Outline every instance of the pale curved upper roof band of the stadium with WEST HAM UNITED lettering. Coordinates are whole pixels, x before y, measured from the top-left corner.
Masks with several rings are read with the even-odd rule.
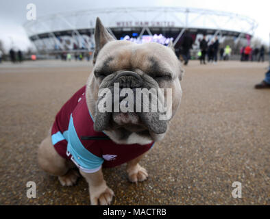
[[[99,16],[106,27],[188,27],[253,34],[256,21],[240,14],[197,8],[103,8],[63,12],[28,21],[29,36],[49,31],[94,28]]]

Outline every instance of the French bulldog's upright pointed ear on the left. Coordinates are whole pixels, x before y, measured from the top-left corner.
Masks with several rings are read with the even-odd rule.
[[[93,63],[95,64],[99,51],[104,47],[107,42],[113,41],[114,38],[109,34],[107,29],[101,23],[99,17],[97,17],[95,27],[95,52],[93,56]]]

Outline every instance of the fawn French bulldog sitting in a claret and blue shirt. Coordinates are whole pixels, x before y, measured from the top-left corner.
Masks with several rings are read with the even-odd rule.
[[[147,179],[147,170],[138,162],[169,130],[169,123],[180,107],[183,70],[172,48],[156,42],[136,44],[115,40],[99,18],[95,26],[93,64],[86,86],[64,104],[49,136],[41,142],[38,164],[42,170],[57,176],[62,185],[74,185],[80,173],[88,182],[90,203],[109,205],[114,192],[103,179],[102,168],[127,163],[131,182]],[[125,88],[131,94],[136,89],[164,89],[158,99],[163,99],[162,103],[166,101],[171,114],[164,119],[160,118],[164,112],[149,110],[153,96],[148,103],[137,99],[138,94],[127,101],[126,94],[121,96]],[[106,95],[102,93],[104,89]],[[114,96],[110,103],[106,102],[108,96]],[[136,101],[132,109],[142,104],[149,111],[115,110],[121,104],[121,109],[130,105],[133,99]],[[111,112],[102,110],[109,106]]]

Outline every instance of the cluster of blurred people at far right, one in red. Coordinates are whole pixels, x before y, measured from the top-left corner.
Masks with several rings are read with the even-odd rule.
[[[252,48],[249,45],[242,47],[240,50],[241,61],[258,61],[265,62],[265,47],[262,45],[260,49],[258,47]]]

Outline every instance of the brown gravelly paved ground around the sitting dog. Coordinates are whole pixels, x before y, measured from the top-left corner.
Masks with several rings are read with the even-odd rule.
[[[186,67],[180,111],[167,137],[143,159],[149,179],[127,181],[125,166],[104,171],[114,205],[269,205],[270,90],[254,90],[267,63]],[[0,204],[88,205],[81,178],[63,188],[38,168],[38,144],[56,112],[84,85],[88,62],[0,65]],[[35,181],[37,198],[26,197]],[[232,182],[243,198],[232,198]]]

